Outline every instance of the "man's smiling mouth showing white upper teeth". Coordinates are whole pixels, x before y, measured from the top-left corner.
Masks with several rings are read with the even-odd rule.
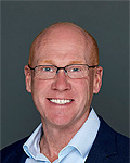
[[[72,101],[74,101],[73,99],[48,99],[48,100],[56,104],[68,104]]]

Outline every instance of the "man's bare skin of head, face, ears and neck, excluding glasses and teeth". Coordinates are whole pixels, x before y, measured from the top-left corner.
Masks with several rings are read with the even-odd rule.
[[[95,40],[82,28],[72,23],[56,23],[35,39],[30,47],[29,62],[36,65],[99,64]],[[34,71],[25,66],[26,89],[31,92],[41,115],[44,135],[40,141],[40,152],[51,162],[70,141],[87,121],[93,93],[102,85],[101,66],[89,70],[81,79],[69,78],[63,70],[53,79],[35,77]],[[48,99],[73,99],[67,104],[55,104]]]

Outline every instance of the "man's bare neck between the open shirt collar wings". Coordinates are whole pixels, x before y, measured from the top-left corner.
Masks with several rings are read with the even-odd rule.
[[[75,131],[67,130],[46,130],[41,141],[40,141],[40,150],[51,162],[58,158],[60,151],[67,146],[70,139],[74,137]]]

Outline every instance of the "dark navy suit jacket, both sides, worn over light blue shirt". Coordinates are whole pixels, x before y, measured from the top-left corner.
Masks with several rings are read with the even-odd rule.
[[[113,130],[102,117],[100,120],[101,126],[86,163],[129,163],[129,139]],[[23,145],[27,138],[4,148],[1,163],[25,163],[27,155]]]

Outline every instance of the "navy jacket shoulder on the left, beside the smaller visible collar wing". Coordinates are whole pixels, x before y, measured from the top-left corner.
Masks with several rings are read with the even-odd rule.
[[[11,159],[13,158],[17,158],[17,156],[23,156],[24,150],[23,150],[23,145],[25,143],[25,141],[27,140],[28,137],[21,139],[5,148],[3,148],[0,151],[1,154],[1,163],[8,163],[10,162]]]

